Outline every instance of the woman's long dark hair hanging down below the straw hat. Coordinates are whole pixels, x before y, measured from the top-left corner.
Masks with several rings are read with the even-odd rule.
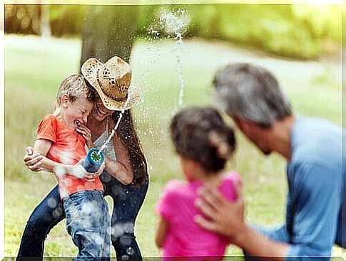
[[[112,119],[116,123],[121,112],[113,112]],[[133,171],[133,184],[141,186],[148,180],[148,169],[146,158],[143,154],[141,142],[138,139],[133,124],[131,110],[126,110],[118,126],[118,134],[127,149]]]

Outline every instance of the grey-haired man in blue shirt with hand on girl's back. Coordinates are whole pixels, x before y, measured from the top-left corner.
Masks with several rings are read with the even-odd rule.
[[[233,203],[213,188],[200,191],[195,203],[207,218],[198,215],[195,221],[227,236],[245,255],[262,259],[327,260],[334,243],[345,247],[341,127],[323,119],[296,117],[278,81],[264,68],[228,65],[216,73],[213,84],[218,101],[240,131],[263,154],[275,151],[287,159],[286,222],[275,228],[245,223],[241,188]]]

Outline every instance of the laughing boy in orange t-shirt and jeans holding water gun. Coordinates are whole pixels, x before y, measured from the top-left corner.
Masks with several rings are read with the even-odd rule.
[[[88,176],[81,166],[86,140],[76,132],[79,124],[86,123],[93,99],[83,76],[63,80],[56,95],[56,110],[39,123],[34,144],[34,151],[43,156],[42,167],[54,171],[58,180],[66,229],[79,249],[76,260],[110,257],[111,252],[108,205],[98,177],[104,166],[92,178]]]

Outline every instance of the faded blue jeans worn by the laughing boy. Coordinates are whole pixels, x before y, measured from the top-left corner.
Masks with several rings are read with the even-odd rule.
[[[74,260],[111,257],[111,220],[102,191],[79,191],[63,198],[66,229],[79,252]]]

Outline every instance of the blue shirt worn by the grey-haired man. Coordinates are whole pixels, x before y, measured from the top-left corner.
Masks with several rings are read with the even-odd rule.
[[[345,247],[342,128],[323,119],[298,117],[291,144],[286,223],[258,229],[268,238],[288,243],[290,261],[295,260],[292,257],[327,257],[334,243]]]

